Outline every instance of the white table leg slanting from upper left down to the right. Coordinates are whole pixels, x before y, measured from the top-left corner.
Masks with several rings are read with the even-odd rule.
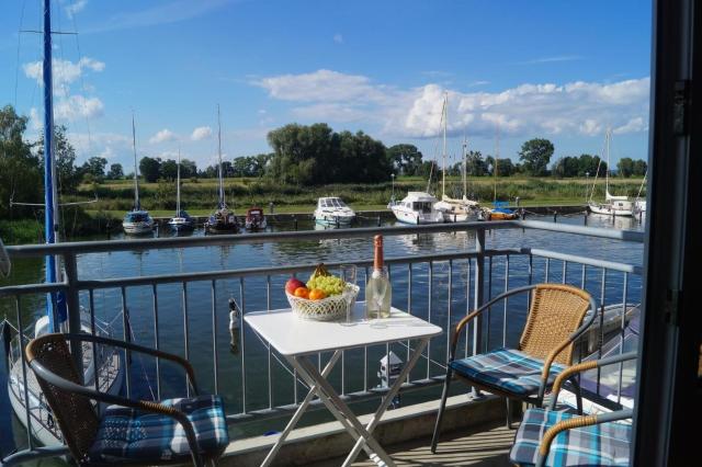
[[[302,369],[303,373],[307,373],[307,375],[318,385],[317,395],[319,398],[325,401],[327,399],[331,403],[325,403],[330,412],[333,413],[337,419],[346,418],[351,426],[346,426],[349,434],[358,440],[356,444],[361,444],[362,447],[371,448],[375,453],[377,457],[385,463],[385,465],[394,466],[393,459],[387,455],[387,453],[383,449],[383,447],[378,444],[375,438],[365,430],[365,426],[359,421],[353,411],[347,406],[347,403],[339,397],[333,387],[327,381],[327,379],[317,371],[315,365],[313,365],[307,358],[295,357],[297,364],[299,365],[298,372]],[[360,437],[358,437],[360,436]],[[367,452],[367,451],[366,451]]]

